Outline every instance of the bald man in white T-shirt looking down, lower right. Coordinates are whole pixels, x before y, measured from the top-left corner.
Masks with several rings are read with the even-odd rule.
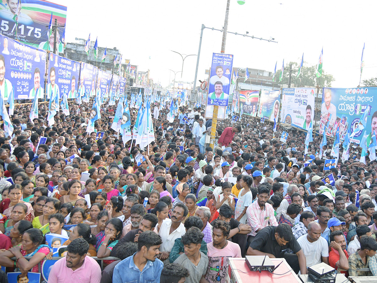
[[[324,262],[329,264],[329,248],[327,241],[321,237],[321,226],[317,222],[308,224],[308,234],[297,239],[307,260],[307,266]]]

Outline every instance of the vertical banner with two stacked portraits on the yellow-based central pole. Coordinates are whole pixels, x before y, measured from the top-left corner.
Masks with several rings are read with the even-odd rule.
[[[218,105],[218,119],[225,118],[228,106],[233,55],[213,53],[210,80],[208,85],[207,107],[205,117],[212,118],[213,106]]]

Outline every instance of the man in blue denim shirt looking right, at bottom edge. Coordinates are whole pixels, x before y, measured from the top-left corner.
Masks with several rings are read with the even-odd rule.
[[[141,233],[138,238],[138,251],[115,266],[113,283],[160,283],[164,264],[157,256],[161,243],[161,237],[155,232]]]

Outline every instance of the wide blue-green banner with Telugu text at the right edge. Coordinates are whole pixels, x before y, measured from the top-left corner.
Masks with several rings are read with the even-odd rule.
[[[326,134],[334,135],[339,129],[342,139],[349,125],[351,142],[360,144],[364,133],[370,142],[372,130],[377,134],[377,103],[373,101],[376,95],[377,88],[372,87],[323,88],[321,122],[328,120]]]

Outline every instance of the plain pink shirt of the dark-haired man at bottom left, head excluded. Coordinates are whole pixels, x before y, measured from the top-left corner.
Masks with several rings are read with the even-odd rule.
[[[101,268],[97,261],[86,256],[83,265],[75,271],[67,267],[66,258],[60,258],[51,269],[48,277],[48,283],[100,283]]]

